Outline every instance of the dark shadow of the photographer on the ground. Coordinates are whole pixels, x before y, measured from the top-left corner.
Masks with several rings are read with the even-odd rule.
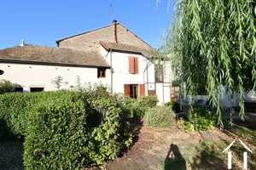
[[[186,161],[181,155],[177,144],[171,144],[165,159],[165,170],[186,170]]]

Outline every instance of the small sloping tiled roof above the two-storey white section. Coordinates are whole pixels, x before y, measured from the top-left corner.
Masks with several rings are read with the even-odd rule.
[[[147,53],[149,51],[149,49],[141,48],[141,47],[125,44],[125,43],[100,41],[100,44],[102,45],[103,48],[107,50],[112,48],[113,50],[116,50],[116,51],[133,52],[133,53],[139,53],[139,54],[143,52]]]

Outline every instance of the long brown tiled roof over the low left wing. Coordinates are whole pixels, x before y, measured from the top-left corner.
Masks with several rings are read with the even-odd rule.
[[[102,54],[96,51],[77,51],[69,48],[50,48],[36,45],[4,48],[0,50],[0,59],[65,65],[110,66]]]

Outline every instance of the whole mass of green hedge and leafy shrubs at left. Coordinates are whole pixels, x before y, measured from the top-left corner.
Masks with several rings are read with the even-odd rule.
[[[25,136],[26,169],[102,164],[131,144],[129,124],[120,123],[123,105],[102,85],[79,92],[3,94],[0,108],[10,131]]]

